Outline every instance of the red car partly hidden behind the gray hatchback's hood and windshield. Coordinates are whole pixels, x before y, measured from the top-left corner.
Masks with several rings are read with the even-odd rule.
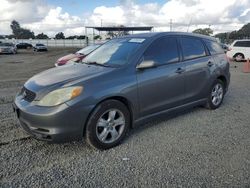
[[[98,48],[99,46],[100,44],[90,45],[77,51],[74,54],[68,54],[66,56],[63,56],[57,60],[57,62],[55,63],[55,66],[57,67],[57,66],[65,65],[65,64],[68,65],[68,64],[79,62],[88,54],[90,54],[92,51],[94,51],[96,48]]]

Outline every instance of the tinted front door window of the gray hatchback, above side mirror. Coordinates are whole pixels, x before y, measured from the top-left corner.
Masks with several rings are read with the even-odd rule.
[[[179,60],[176,38],[163,37],[154,41],[144,53],[144,60],[153,60],[158,64]]]

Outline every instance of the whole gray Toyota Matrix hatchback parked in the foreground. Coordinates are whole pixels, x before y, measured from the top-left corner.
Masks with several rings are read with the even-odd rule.
[[[85,138],[108,149],[153,116],[197,105],[218,108],[230,82],[220,45],[191,33],[116,38],[83,61],[24,84],[13,107],[25,131],[53,142]]]

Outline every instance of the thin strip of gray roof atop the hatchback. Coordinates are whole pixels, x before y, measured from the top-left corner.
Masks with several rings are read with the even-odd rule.
[[[150,33],[139,33],[139,34],[126,35],[126,36],[123,36],[122,38],[135,38],[135,37],[151,38],[151,37],[171,36],[171,35],[194,36],[194,37],[199,37],[199,38],[203,38],[203,39],[217,41],[216,38],[214,38],[214,37],[196,34],[196,33],[188,33],[188,32],[150,32]]]

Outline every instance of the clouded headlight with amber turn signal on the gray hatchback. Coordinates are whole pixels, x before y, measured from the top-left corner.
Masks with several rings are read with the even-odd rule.
[[[54,90],[45,95],[38,103],[38,106],[56,106],[65,103],[79,96],[83,91],[83,87],[67,87]]]

